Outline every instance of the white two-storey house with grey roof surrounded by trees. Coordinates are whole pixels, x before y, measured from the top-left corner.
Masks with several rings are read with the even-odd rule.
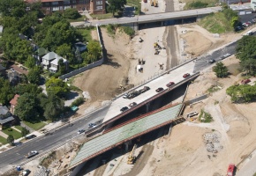
[[[47,55],[44,55],[42,57],[41,66],[52,73],[56,73],[58,70],[58,62],[60,59],[63,59],[64,64],[66,66],[66,70],[67,70],[68,68],[67,60],[57,55],[55,52],[49,52]]]

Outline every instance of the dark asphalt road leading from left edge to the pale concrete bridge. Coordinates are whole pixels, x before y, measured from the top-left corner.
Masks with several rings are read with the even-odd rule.
[[[42,153],[43,151],[52,149],[53,147],[78,136],[77,132],[80,128],[87,130],[88,123],[102,120],[107,113],[108,108],[109,106],[104,106],[99,111],[89,114],[86,119],[82,118],[78,121],[73,121],[72,126],[67,125],[64,128],[56,129],[56,131],[50,131],[52,135],[37,137],[20,146],[12,148],[11,150],[6,150],[0,153],[0,171],[4,172],[7,165],[19,165],[20,163],[25,162],[27,159],[24,158],[24,155],[31,150],[37,150],[39,153]]]

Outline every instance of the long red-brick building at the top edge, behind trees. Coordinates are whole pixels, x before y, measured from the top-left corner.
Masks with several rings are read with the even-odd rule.
[[[32,4],[40,0],[25,0]],[[106,0],[41,0],[42,10],[46,13],[64,11],[68,8],[75,8],[78,11],[90,11],[93,14],[106,13]]]

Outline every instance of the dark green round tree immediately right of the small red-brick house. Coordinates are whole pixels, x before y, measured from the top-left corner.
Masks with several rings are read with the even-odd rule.
[[[32,93],[20,95],[14,114],[19,116],[22,121],[34,121],[38,117],[39,102]]]

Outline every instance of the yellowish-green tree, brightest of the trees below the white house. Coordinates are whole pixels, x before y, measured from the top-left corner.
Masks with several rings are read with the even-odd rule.
[[[46,86],[47,94],[53,93],[54,95],[60,98],[64,97],[65,94],[69,92],[68,85],[62,79],[59,79],[59,78],[55,78],[55,77],[50,78],[46,82],[45,86]]]

